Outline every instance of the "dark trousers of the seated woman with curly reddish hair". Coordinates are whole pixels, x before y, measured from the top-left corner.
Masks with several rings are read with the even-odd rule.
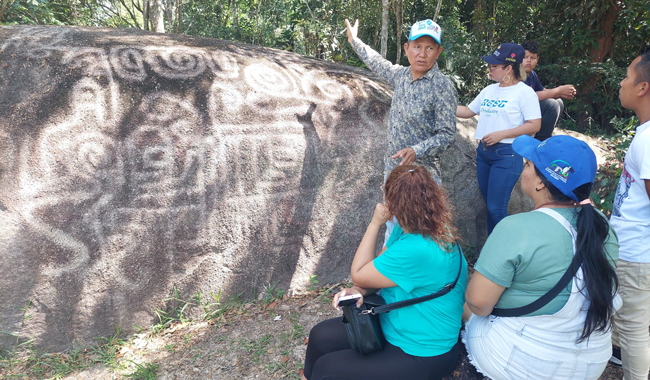
[[[341,318],[325,320],[309,333],[305,377],[309,380],[441,379],[456,367],[460,345],[447,353],[420,357],[384,342],[384,349],[363,356],[350,348]]]

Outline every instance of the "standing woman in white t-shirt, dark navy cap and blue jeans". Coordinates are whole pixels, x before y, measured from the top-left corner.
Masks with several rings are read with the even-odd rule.
[[[476,177],[487,205],[488,234],[508,216],[508,201],[523,169],[523,159],[512,150],[521,135],[533,135],[541,126],[537,94],[524,84],[524,48],[501,44],[481,58],[489,64],[490,78],[497,82],[484,88],[468,106],[458,106],[456,116],[479,115],[475,138]]]

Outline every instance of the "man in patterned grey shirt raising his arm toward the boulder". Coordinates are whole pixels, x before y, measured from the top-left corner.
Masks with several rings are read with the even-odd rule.
[[[404,67],[391,64],[357,38],[359,20],[354,26],[345,20],[345,25],[348,41],[357,55],[394,88],[384,175],[388,176],[397,165],[415,162],[425,166],[439,181],[439,156],[456,136],[458,99],[451,80],[438,70],[436,63],[442,52],[440,26],[431,20],[413,24],[404,44],[410,67]]]

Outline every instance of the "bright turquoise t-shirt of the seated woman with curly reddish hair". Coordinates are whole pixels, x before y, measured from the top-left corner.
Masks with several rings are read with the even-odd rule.
[[[465,258],[458,248],[446,252],[428,237],[404,233],[399,225],[393,229],[386,247],[386,251],[374,260],[375,268],[397,284],[381,290],[386,303],[437,292],[456,279],[459,256],[462,258],[461,274],[451,292],[381,314],[386,340],[407,354],[436,356],[449,352],[458,341],[465,303]]]

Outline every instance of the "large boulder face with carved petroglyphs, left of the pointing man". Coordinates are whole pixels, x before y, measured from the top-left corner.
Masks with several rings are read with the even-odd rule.
[[[173,287],[344,276],[356,210],[379,200],[385,87],[286,52],[130,33],[0,28],[0,329],[34,299],[24,338],[45,348],[148,324]],[[26,78],[38,86],[13,91]]]

